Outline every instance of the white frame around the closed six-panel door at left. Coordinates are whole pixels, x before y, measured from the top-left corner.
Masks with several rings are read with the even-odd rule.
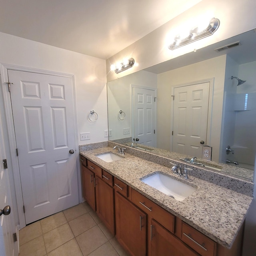
[[[81,202],[82,201],[82,196],[81,196],[82,188],[81,188],[81,178],[80,178],[80,168],[79,168],[80,162],[79,162],[79,157],[78,157],[79,149],[78,149],[74,75],[64,74],[64,73],[60,73],[60,72],[53,72],[53,71],[48,71],[48,70],[41,70],[41,69],[36,69],[36,68],[26,68],[26,67],[22,67],[22,66],[3,64],[3,63],[0,63],[0,68],[1,68],[1,74],[2,74],[2,76],[1,76],[2,90],[3,90],[3,96],[4,96],[6,122],[7,122],[7,127],[8,127],[8,136],[9,136],[10,151],[11,151],[11,161],[12,161],[12,167],[13,167],[14,184],[15,184],[17,206],[18,206],[18,216],[19,216],[20,228],[24,228],[26,226],[26,222],[25,222],[25,214],[23,212],[23,197],[22,197],[22,187],[21,187],[21,180],[20,180],[20,170],[19,170],[19,165],[18,165],[18,158],[16,156],[16,139],[15,139],[15,132],[14,132],[14,122],[13,122],[13,118],[12,118],[12,105],[11,105],[11,100],[10,100],[10,92],[8,90],[8,85],[6,84],[8,82],[8,69],[71,78],[72,98],[73,98],[73,114],[74,114],[74,121],[75,121],[74,129],[75,129],[76,166],[77,166],[77,175],[78,175],[78,195],[79,195],[78,200],[79,200],[79,202]],[[12,81],[9,81],[9,82],[12,82]]]

